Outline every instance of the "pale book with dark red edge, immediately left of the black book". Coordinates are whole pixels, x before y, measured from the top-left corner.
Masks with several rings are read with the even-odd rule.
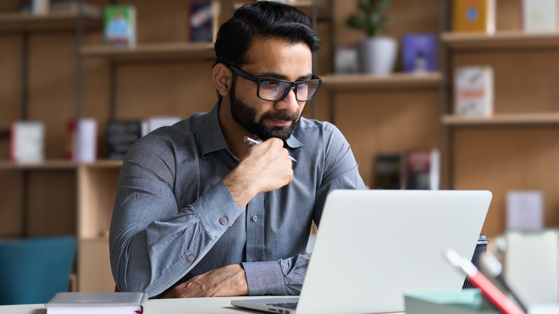
[[[97,159],[97,120],[70,120],[66,158],[76,163],[93,163]]]

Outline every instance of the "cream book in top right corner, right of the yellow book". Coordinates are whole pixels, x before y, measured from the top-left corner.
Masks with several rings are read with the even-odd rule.
[[[557,29],[557,0],[522,0],[522,29],[553,32]]]

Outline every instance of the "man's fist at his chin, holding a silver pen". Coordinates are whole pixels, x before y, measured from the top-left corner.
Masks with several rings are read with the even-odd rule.
[[[275,137],[247,150],[240,163],[223,179],[237,206],[246,206],[258,193],[291,183],[292,161],[287,153],[283,141]]]

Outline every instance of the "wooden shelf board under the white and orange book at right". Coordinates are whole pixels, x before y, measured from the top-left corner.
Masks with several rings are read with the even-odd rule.
[[[444,115],[441,122],[448,126],[548,125],[559,124],[559,113],[497,113],[492,117]]]

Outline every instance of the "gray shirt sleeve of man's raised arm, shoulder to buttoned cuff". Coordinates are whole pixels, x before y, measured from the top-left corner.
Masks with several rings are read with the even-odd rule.
[[[120,291],[150,297],[162,293],[203,258],[244,210],[222,181],[178,208],[174,169],[168,148],[151,140],[132,145],[122,165],[109,237]]]

